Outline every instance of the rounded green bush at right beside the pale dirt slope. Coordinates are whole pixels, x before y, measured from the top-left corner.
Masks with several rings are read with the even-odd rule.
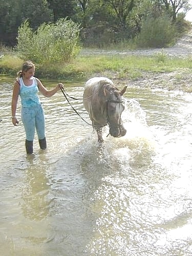
[[[162,48],[174,44],[176,28],[167,16],[148,16],[143,22],[138,40],[139,47]]]

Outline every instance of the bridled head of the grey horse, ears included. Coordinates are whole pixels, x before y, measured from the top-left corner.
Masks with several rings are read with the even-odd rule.
[[[114,86],[106,84],[104,86],[104,96],[106,99],[106,119],[110,127],[110,134],[113,137],[122,137],[126,134],[121,114],[124,110],[121,96],[126,91],[126,86],[119,91]]]

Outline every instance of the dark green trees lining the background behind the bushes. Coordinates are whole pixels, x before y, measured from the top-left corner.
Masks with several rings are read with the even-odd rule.
[[[37,30],[43,23],[53,22],[53,20],[56,22],[58,18],[68,18],[81,24],[83,30],[80,31],[80,36],[84,46],[115,45],[137,37],[141,28],[143,30],[146,27],[147,15],[151,15],[152,19],[152,26],[149,26],[146,32],[150,35],[155,18],[166,14],[174,22],[174,27],[179,33],[177,37],[179,37],[190,26],[184,21],[186,11],[191,8],[189,3],[189,0],[1,0],[0,43],[15,46],[18,28],[26,19],[29,26]],[[178,10],[183,10],[182,15]],[[143,20],[145,20],[144,24]],[[162,23],[160,18],[159,20]],[[167,20],[166,17],[165,20]],[[167,25],[170,24],[164,25],[165,42],[158,39],[159,47],[169,45],[169,41],[172,41],[167,40],[166,34]],[[151,44],[145,47],[157,45],[157,42],[153,44],[153,40],[150,40]],[[144,41],[146,45],[146,40]],[[142,42],[140,45],[143,45]]]

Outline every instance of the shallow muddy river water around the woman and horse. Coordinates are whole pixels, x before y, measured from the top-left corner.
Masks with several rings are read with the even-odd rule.
[[[83,85],[66,90],[89,121]],[[191,255],[191,94],[130,87],[127,134],[102,148],[61,92],[42,97],[48,149],[26,157],[11,81],[0,93],[0,255]]]

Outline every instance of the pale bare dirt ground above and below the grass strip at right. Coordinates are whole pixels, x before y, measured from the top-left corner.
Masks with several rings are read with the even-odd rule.
[[[84,50],[83,54],[110,54],[110,55],[154,55],[160,53],[162,49],[148,49],[148,50],[137,50],[137,51],[118,51],[118,50]],[[168,56],[176,57],[189,57],[192,61],[192,30],[181,38],[177,44],[173,47],[164,48],[164,53]],[[183,92],[192,92],[192,72],[191,69],[181,69],[174,72],[154,74],[150,72],[144,72],[142,77],[139,79],[118,79],[117,74],[106,73],[105,76],[113,79],[114,83],[118,86],[124,84],[136,87],[147,87],[147,88],[161,88],[166,90],[180,90]]]

